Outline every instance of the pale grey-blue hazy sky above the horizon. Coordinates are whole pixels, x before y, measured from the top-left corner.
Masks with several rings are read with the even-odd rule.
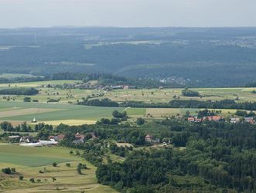
[[[0,28],[256,26],[256,0],[0,0]]]

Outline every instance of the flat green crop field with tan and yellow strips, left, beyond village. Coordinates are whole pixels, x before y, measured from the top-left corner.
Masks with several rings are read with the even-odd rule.
[[[9,121],[31,122],[33,117],[39,122],[72,120],[72,124],[77,124],[75,120],[82,124],[94,123],[102,117],[111,117],[114,110],[124,110],[115,107],[85,107],[72,104],[49,104],[49,103],[23,103],[23,102],[0,102],[0,119]],[[89,122],[88,122],[89,121]],[[51,123],[51,122],[49,122]]]

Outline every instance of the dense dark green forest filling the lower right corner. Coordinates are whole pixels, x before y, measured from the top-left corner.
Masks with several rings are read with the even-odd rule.
[[[169,137],[179,136],[186,149],[132,151],[123,163],[101,164],[98,181],[129,192],[254,192],[255,126],[161,124],[170,128]]]

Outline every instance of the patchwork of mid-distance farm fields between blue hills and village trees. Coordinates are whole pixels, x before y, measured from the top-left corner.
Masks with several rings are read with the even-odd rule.
[[[4,76],[4,75],[3,75]],[[5,75],[7,76],[7,75]],[[90,81],[91,82],[91,81]],[[125,101],[143,101],[145,103],[168,103],[170,100],[237,100],[256,101],[256,95],[251,93],[255,88],[194,88],[193,91],[200,93],[200,97],[184,97],[182,89],[131,89],[131,90],[80,90],[60,89],[45,87],[43,85],[63,85],[77,83],[75,80],[50,80],[29,83],[0,84],[0,88],[7,87],[34,87],[39,93],[34,96],[4,96],[0,97],[0,120],[8,120],[13,124],[30,122],[33,117],[39,122],[57,125],[60,123],[78,125],[94,124],[101,118],[111,118],[113,110],[123,111],[121,107],[86,107],[74,105],[77,101],[88,96],[101,96],[98,99],[109,98],[112,101],[121,103]],[[92,83],[90,83],[92,84]],[[31,97],[31,100],[39,102],[24,103],[24,97]],[[47,100],[60,100],[56,103],[46,103]],[[170,117],[183,115],[186,111],[196,113],[199,109],[150,109],[150,108],[128,108],[129,117]],[[234,110],[223,110],[223,113],[234,113]],[[150,118],[150,116],[148,118]]]

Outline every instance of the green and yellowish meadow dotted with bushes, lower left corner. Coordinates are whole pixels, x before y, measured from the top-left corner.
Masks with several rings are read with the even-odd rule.
[[[57,167],[51,164],[56,161]],[[67,167],[66,163],[71,167]],[[83,174],[77,174],[77,164],[87,164]],[[97,184],[96,168],[81,157],[69,154],[64,147],[20,147],[0,144],[0,168],[11,167],[17,174],[0,172],[0,192],[115,192],[108,186]],[[39,173],[43,171],[43,173]],[[22,181],[19,175],[24,176]],[[53,182],[52,178],[56,178]],[[39,179],[31,183],[29,178]]]

